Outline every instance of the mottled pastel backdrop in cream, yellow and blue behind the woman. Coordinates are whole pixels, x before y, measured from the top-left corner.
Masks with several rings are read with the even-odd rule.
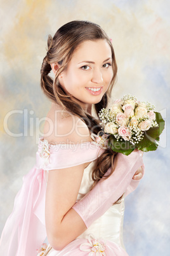
[[[169,10],[169,0],[1,0],[0,232],[23,175],[35,164],[50,106],[39,85],[48,34],[76,19],[100,24],[112,38],[119,68],[114,99],[131,93],[152,102],[169,127]],[[170,252],[167,131],[157,152],[145,153],[145,177],[126,199],[124,243],[131,256]]]

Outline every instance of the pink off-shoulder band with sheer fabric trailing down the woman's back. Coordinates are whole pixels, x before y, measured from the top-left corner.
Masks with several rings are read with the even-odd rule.
[[[92,143],[48,145],[40,139],[36,166],[23,177],[0,241],[2,256],[36,256],[46,238],[46,171],[92,162],[102,150]]]

